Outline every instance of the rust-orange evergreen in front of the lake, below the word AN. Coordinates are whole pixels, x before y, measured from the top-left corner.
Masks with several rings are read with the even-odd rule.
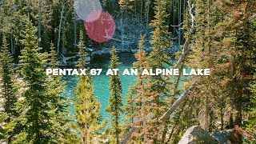
[[[138,69],[137,82],[130,86],[130,93],[126,96],[126,104],[123,106],[126,117],[124,118],[124,122],[129,123],[126,126],[126,133],[128,130],[134,126],[137,129],[132,134],[130,138],[130,143],[138,143],[142,142],[142,135],[145,136],[143,138],[143,142],[147,142],[146,138],[146,90],[147,85],[146,81],[148,80],[148,76],[142,76],[142,70],[148,67],[148,62],[146,62],[146,51],[144,48],[144,36],[141,36],[140,41],[138,43],[138,52],[134,54],[134,57],[137,59],[136,62],[133,63],[133,69]],[[148,99],[147,99],[148,100]],[[147,105],[148,106],[148,105]],[[145,125],[145,126],[142,126]]]

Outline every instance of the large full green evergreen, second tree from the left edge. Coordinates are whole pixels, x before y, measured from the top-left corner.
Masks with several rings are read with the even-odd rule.
[[[40,54],[38,38],[35,35],[37,30],[31,22],[27,22],[26,30],[23,30],[21,42],[24,49],[20,58],[22,81],[26,82],[22,97],[19,102],[18,120],[23,124],[22,133],[16,135],[15,142],[50,142],[50,107],[46,102],[50,98],[46,96],[46,74],[43,64],[47,61],[46,54]],[[44,121],[42,121],[44,119]]]

